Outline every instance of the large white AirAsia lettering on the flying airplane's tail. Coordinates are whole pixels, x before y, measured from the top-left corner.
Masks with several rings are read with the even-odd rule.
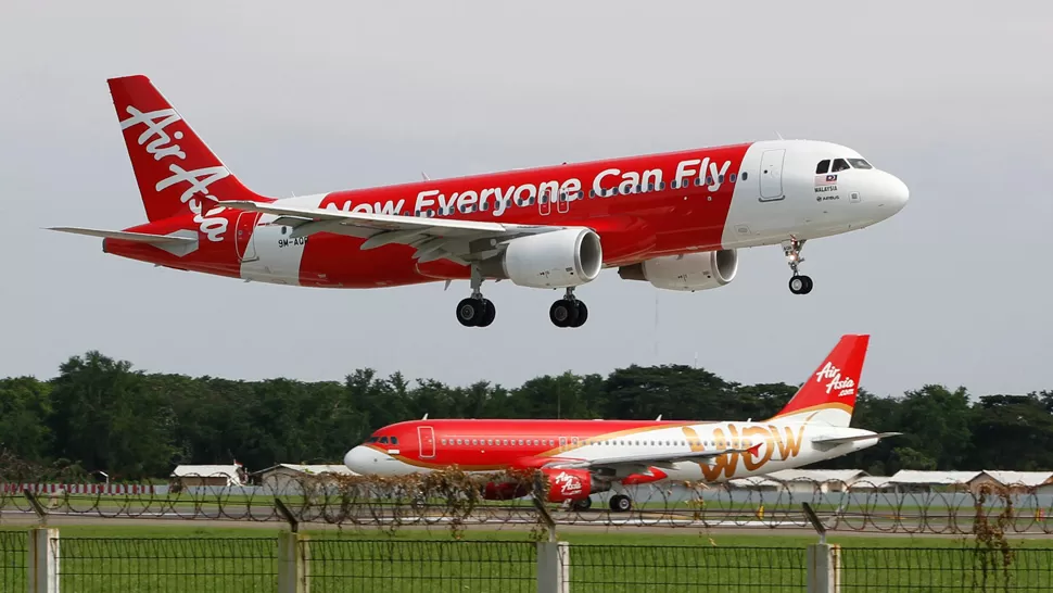
[[[145,129],[139,135],[136,141],[140,147],[145,144],[147,153],[152,155],[155,161],[161,161],[162,159],[187,159],[187,153],[182,151],[179,144],[174,142],[174,139],[182,139],[182,133],[176,131],[172,136],[168,136],[168,133],[165,131],[165,128],[172,124],[182,121],[182,117],[176,113],[176,110],[162,109],[142,113],[135,106],[128,105],[125,111],[131,117],[120,121],[120,129],[126,130],[140,124],[145,126]],[[202,213],[202,201],[195,198],[194,194],[200,193],[205,198],[215,200],[215,198],[208,194],[208,186],[229,177],[230,172],[227,171],[227,167],[220,165],[186,171],[178,164],[172,163],[168,165],[168,172],[172,173],[172,176],[157,181],[154,189],[163,191],[177,184],[188,184],[189,186],[179,197],[179,201],[187,204],[190,212],[194,215],[194,223],[200,225],[199,229],[203,235],[208,237],[210,241],[223,241],[223,236],[227,232],[227,219],[216,215],[225,209],[220,206]]]

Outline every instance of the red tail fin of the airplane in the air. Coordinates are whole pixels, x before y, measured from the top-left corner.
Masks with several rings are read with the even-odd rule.
[[[145,76],[111,78],[131,168],[151,222],[211,210],[205,195],[255,200]]]

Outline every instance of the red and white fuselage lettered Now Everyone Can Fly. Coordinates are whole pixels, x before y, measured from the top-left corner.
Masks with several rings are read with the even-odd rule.
[[[824,173],[817,166],[826,162]],[[833,165],[832,165],[833,163]],[[845,168],[833,171],[837,163]],[[208,179],[195,185],[204,191]],[[189,184],[188,184],[189,187]],[[773,140],[282,199],[350,212],[594,229],[606,267],[662,255],[778,244],[858,230],[908,200],[895,176],[829,142]],[[196,205],[196,209],[194,206]],[[107,253],[178,269],[321,288],[375,288],[465,279],[469,266],[421,263],[415,248],[363,251],[364,239],[330,232],[293,237],[275,215],[211,209],[127,229],[199,232],[175,255],[104,240]]]

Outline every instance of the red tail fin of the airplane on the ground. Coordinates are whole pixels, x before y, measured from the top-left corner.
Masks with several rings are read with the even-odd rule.
[[[855,408],[855,392],[870,340],[868,335],[841,336],[823,364],[775,417],[799,415],[801,420],[847,427]]]

